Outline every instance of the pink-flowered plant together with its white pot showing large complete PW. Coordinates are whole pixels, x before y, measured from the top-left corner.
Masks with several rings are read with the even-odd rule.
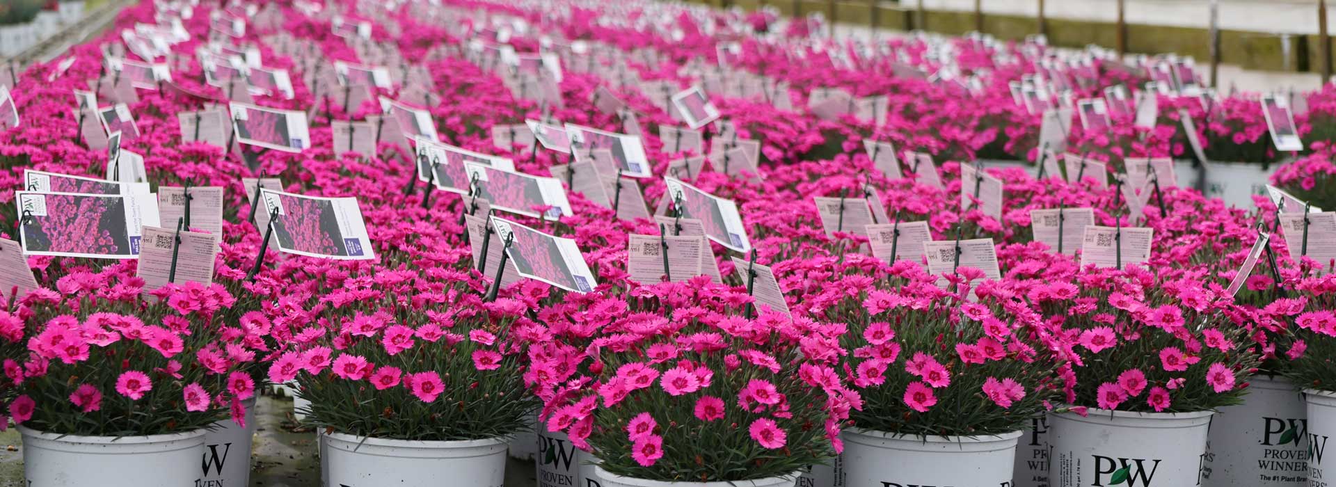
[[[1088,267],[1077,284],[1037,303],[1073,364],[1071,407],[1049,416],[1051,484],[1197,484],[1210,416],[1241,403],[1256,372],[1248,330],[1190,275]]]

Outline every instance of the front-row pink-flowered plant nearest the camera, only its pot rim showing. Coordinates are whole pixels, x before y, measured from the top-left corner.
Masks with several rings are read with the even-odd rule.
[[[549,428],[597,459],[595,482],[792,486],[834,456],[831,442],[859,407],[835,370],[835,338],[812,334],[835,326],[770,311],[748,318],[751,299],[709,278],[625,298],[628,312],[587,311],[608,322],[588,351],[595,363],[548,404]]]

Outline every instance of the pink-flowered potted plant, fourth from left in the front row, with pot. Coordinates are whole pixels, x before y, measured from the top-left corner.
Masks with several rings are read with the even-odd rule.
[[[969,302],[969,286],[943,291],[910,262],[884,280],[831,284],[846,298],[823,318],[847,327],[843,370],[863,396],[843,434],[844,480],[1010,484],[1022,428],[1061,392],[1039,315],[1005,284],[979,284]]]

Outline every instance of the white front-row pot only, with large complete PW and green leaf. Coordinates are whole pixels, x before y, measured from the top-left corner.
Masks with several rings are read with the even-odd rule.
[[[1198,486],[1210,411],[1049,415],[1053,487]]]

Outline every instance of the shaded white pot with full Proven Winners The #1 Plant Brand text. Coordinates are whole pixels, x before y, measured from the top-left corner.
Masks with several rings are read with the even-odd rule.
[[[1253,376],[1238,406],[1210,422],[1206,487],[1307,487],[1308,415],[1295,383]]]

